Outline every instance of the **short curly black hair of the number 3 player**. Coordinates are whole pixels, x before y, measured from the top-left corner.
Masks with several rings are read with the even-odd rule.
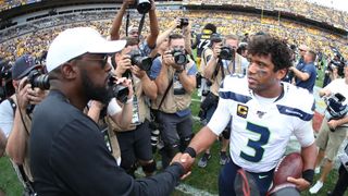
[[[251,56],[271,56],[274,72],[290,68],[291,54],[287,45],[278,38],[270,35],[256,35],[247,46]]]

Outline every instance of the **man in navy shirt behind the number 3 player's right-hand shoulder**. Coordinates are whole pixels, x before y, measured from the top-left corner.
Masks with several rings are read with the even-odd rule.
[[[316,79],[316,69],[314,65],[316,54],[314,51],[309,50],[303,57],[303,66],[291,66],[290,71],[294,73],[296,86],[308,89],[313,93]]]

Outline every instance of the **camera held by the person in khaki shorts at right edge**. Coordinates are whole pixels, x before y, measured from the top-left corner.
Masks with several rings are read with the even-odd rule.
[[[327,98],[324,98],[326,102],[325,118],[330,120],[337,120],[344,118],[348,113],[348,106],[344,105],[346,97],[337,93]],[[331,130],[334,132],[335,130]]]

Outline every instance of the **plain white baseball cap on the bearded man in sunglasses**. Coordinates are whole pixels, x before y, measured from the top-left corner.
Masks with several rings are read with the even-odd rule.
[[[47,71],[51,72],[63,63],[84,53],[114,53],[122,50],[125,40],[108,41],[91,27],[69,28],[52,41],[47,53]]]

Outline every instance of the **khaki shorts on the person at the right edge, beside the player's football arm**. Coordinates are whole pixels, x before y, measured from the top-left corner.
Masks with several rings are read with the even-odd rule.
[[[315,144],[321,150],[325,150],[325,157],[333,161],[346,136],[347,127],[337,127],[335,132],[332,132],[327,126],[327,120],[324,118]]]

